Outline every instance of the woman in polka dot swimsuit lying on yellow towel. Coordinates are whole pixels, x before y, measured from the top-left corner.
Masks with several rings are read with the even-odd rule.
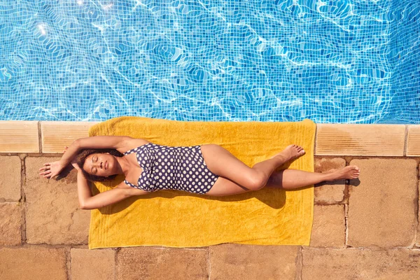
[[[296,169],[275,170],[304,155],[297,145],[287,146],[272,158],[248,167],[216,144],[162,146],[145,139],[96,136],[77,139],[65,147],[62,159],[47,162],[40,176],[57,176],[66,165],[78,171],[81,209],[97,209],[133,195],[158,190],[182,190],[200,195],[238,195],[262,188],[295,189],[323,181],[356,179],[358,167],[351,165],[326,173]],[[88,181],[110,181],[118,174],[125,180],[116,188],[92,196]]]

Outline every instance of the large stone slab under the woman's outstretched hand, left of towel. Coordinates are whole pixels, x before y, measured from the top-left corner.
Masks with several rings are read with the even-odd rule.
[[[38,175],[45,162],[59,159],[25,159],[28,244],[87,244],[90,211],[79,208],[76,170],[49,181]]]

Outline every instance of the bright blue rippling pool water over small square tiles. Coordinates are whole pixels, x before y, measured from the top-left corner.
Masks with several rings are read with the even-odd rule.
[[[420,123],[418,0],[2,1],[0,120]]]

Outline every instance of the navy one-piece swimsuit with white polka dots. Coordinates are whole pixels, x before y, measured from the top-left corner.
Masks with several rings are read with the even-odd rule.
[[[143,171],[137,186],[124,180],[133,188],[148,192],[183,190],[205,194],[218,179],[218,175],[207,168],[200,146],[171,147],[148,143],[124,155],[134,152]]]

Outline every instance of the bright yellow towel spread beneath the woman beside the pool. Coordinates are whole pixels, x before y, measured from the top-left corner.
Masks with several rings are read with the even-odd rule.
[[[315,130],[311,120],[187,122],[120,117],[92,126],[89,136],[125,135],[165,146],[218,144],[249,167],[297,144],[306,154],[288,168],[314,172]],[[111,183],[95,182],[92,193],[110,190],[123,179],[119,175]],[[227,197],[160,190],[92,210],[89,248],[222,243],[309,246],[313,202],[314,188],[262,188]]]

